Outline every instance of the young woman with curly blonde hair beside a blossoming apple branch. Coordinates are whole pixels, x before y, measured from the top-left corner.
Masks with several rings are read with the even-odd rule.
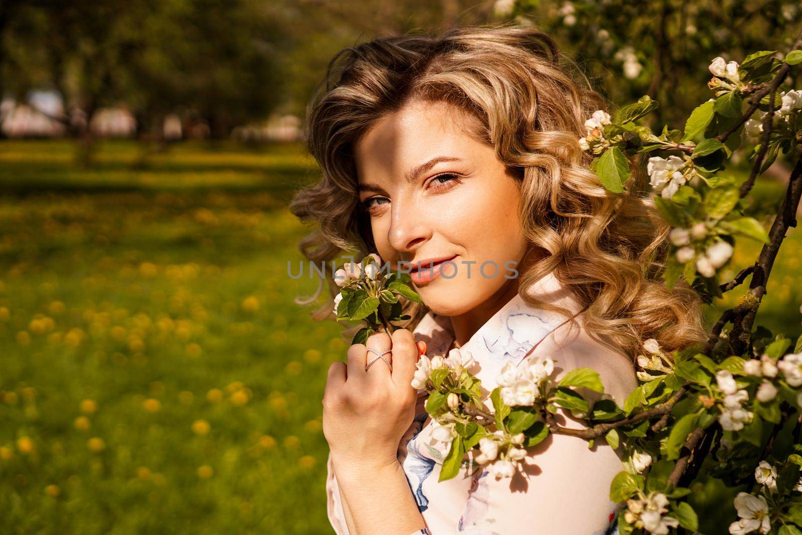
[[[530,27],[395,36],[338,53],[310,103],[306,140],[322,180],[291,205],[319,223],[303,253],[320,263],[379,253],[394,270],[420,262],[411,276],[424,305],[407,303],[403,329],[330,367],[336,533],[612,533],[622,448],[553,435],[527,450],[523,473],[466,462],[439,482],[442,432],[411,387],[419,352],[459,348],[485,395],[504,363],[550,357],[555,380],[592,367],[622,405],[644,340],[673,351],[703,339],[695,292],[660,281],[669,228],[643,176],[614,194],[589,170],[577,139],[605,105],[569,72]]]

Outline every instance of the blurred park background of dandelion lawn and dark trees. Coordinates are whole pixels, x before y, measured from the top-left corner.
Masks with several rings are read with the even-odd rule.
[[[802,10],[0,0],[0,533],[330,533],[320,399],[346,342],[294,304],[318,281],[287,274],[310,229],[286,205],[317,178],[306,103],[342,47],[511,19],[551,32],[618,105],[657,99],[659,131],[711,98],[711,59],[787,51]],[[733,164],[743,180],[746,154]],[[755,186],[767,224],[788,169]],[[788,336],[800,242],[756,323]],[[759,251],[739,245],[722,281]]]

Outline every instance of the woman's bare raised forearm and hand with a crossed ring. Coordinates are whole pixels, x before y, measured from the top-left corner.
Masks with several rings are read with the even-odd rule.
[[[367,347],[391,350],[365,371]],[[374,355],[368,354],[371,359]],[[348,349],[347,363],[333,363],[323,397],[323,433],[350,535],[410,535],[425,529],[407,477],[396,458],[415,415],[411,387],[419,347],[409,330],[377,333]]]

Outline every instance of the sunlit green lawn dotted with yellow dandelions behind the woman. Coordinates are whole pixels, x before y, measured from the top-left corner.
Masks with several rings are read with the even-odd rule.
[[[0,143],[0,533],[330,533],[320,399],[346,345],[286,265],[313,163],[294,144],[74,156]],[[757,320],[792,336],[800,242]]]

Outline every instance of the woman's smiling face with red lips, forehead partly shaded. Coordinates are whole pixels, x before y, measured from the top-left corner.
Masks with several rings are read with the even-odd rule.
[[[379,256],[393,270],[411,262],[423,302],[447,316],[517,288],[514,270],[528,250],[512,172],[468,135],[465,121],[448,103],[415,101],[372,125],[354,148],[359,201]],[[427,269],[427,260],[444,259],[452,262]]]

